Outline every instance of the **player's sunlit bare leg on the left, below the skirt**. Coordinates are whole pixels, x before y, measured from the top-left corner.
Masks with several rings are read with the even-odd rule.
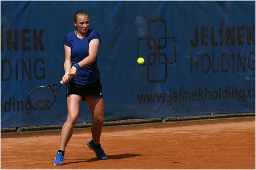
[[[79,115],[79,107],[81,104],[81,100],[82,100],[82,96],[79,96],[79,95],[68,95],[67,97],[68,117],[62,127],[61,134],[60,134],[59,150],[61,151],[65,150],[68,144],[68,141],[73,134],[74,126],[76,124],[76,121]]]

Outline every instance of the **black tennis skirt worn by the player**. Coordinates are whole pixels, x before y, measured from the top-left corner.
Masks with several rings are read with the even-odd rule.
[[[83,96],[82,100],[85,100],[84,97],[102,98],[103,93],[100,79],[86,85],[79,85],[69,82],[66,84],[66,97],[70,94]]]

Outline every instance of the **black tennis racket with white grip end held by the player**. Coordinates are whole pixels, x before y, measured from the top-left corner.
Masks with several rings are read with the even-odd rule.
[[[28,97],[27,97],[28,104],[35,110],[48,109],[55,102],[57,92],[60,89],[60,86],[59,86],[56,89],[56,91],[54,91],[52,87],[58,84],[60,84],[61,86],[63,84],[63,81],[61,80],[60,82],[55,84],[39,86],[32,89],[28,93]]]

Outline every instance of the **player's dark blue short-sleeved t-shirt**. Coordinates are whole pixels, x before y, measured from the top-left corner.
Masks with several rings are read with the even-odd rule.
[[[88,30],[86,37],[83,39],[76,37],[74,31],[68,32],[63,40],[63,44],[71,48],[72,65],[82,61],[89,55],[89,43],[92,39],[100,39],[100,34],[95,30]],[[86,85],[98,80],[99,78],[100,72],[97,67],[96,56],[95,62],[77,70],[76,77],[69,82]]]

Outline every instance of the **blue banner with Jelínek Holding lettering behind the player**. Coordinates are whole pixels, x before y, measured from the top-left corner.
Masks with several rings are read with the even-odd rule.
[[[102,39],[106,121],[255,111],[255,1],[1,1],[1,127],[65,122],[64,87],[48,110],[27,95],[61,80],[78,10]]]

